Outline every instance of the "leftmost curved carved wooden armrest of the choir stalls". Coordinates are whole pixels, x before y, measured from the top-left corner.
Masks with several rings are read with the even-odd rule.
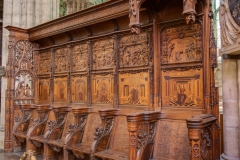
[[[22,112],[22,117],[14,117],[15,123],[13,126],[13,134],[27,130],[30,118],[32,116],[32,110],[35,109],[34,104],[19,105],[19,107]]]

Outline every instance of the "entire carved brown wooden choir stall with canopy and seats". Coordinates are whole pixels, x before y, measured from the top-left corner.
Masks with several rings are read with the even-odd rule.
[[[212,17],[210,0],[109,0],[6,27],[5,152],[219,159]]]

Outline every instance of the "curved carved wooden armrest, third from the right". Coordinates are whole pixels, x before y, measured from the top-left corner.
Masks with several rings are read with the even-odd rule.
[[[99,110],[99,115],[102,120],[101,127],[97,127],[94,133],[94,141],[91,146],[90,156],[94,157],[94,153],[98,150],[99,144],[103,138],[110,136],[113,128],[114,118],[118,115],[118,109]]]

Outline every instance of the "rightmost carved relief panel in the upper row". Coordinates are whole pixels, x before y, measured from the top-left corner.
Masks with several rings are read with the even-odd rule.
[[[202,25],[176,24],[161,30],[162,64],[196,62],[202,60]]]

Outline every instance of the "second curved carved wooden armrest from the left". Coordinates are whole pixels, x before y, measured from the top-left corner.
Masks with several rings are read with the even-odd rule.
[[[48,113],[52,108],[50,105],[38,105],[37,113],[38,118],[32,119],[33,123],[31,124],[27,137],[39,136],[43,134],[45,123],[48,119]]]

